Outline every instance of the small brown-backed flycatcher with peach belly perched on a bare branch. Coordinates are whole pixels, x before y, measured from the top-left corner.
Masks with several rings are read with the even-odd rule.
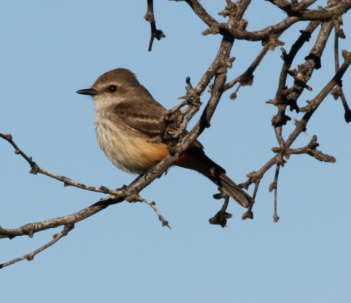
[[[119,169],[144,174],[169,154],[165,143],[147,142],[161,132],[166,108],[151,96],[130,70],[118,68],[104,73],[90,89],[77,93],[94,98],[94,123],[99,145]],[[179,125],[172,124],[170,128],[175,133]],[[247,208],[254,203],[225,175],[223,168],[205,155],[197,140],[173,165],[200,172],[241,206]]]

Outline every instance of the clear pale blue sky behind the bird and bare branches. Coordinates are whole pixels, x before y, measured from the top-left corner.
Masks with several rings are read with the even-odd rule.
[[[4,1],[0,132],[11,133],[40,167],[56,174],[111,189],[130,183],[134,176],[115,168],[96,142],[92,100],[75,91],[89,87],[108,70],[124,67],[137,74],[156,100],[171,108],[185,95],[185,78],[197,83],[221,40],[201,35],[206,25],[185,2],[154,2],[156,25],[166,38],[154,41],[148,52],[146,1]],[[248,30],[285,17],[267,1],[252,2],[244,16]],[[221,21],[217,12],[225,1],[201,3]],[[324,6],[325,1],[317,4]],[[347,37],[350,20],[345,16]],[[306,24],[296,24],[282,35],[287,50]],[[313,92],[304,92],[299,106],[332,78],[332,40],[322,57],[322,69],[314,71],[308,83]],[[293,68],[303,62],[312,43],[304,46]],[[350,51],[350,46],[349,40],[340,41],[340,49]],[[236,41],[231,54],[236,61],[228,79],[240,75],[260,49],[259,42]],[[280,55],[278,48],[266,55],[253,86],[241,87],[235,101],[229,99],[231,92],[223,95],[212,126],[199,138],[206,154],[237,183],[274,155],[271,148],[277,142],[271,118],[276,108],[265,101],[277,89]],[[344,84],[349,82],[348,70]],[[344,85],[344,92],[350,99],[350,87]],[[203,94],[204,102],[208,96]],[[273,193],[268,192],[274,169],[260,183],[254,219],[242,221],[245,209],[232,201],[228,211],[233,218],[221,228],[208,223],[221,207],[212,199],[216,186],[196,172],[172,168],[141,192],[157,203],[172,230],[162,227],[146,204],[110,206],[77,223],[67,237],[33,261],[2,269],[0,301],[349,301],[351,135],[343,115],[340,101],[327,97],[306,134],[293,144],[293,148],[305,146],[316,134],[320,149],[337,162],[322,163],[307,155],[290,157],[279,174],[278,223],[272,220]],[[293,122],[284,127],[285,138],[293,128]],[[27,163],[4,140],[0,140],[0,155],[0,225],[4,228],[64,216],[103,197],[28,174]],[[33,251],[58,232],[60,228],[37,233],[33,239],[2,239],[0,263]]]

